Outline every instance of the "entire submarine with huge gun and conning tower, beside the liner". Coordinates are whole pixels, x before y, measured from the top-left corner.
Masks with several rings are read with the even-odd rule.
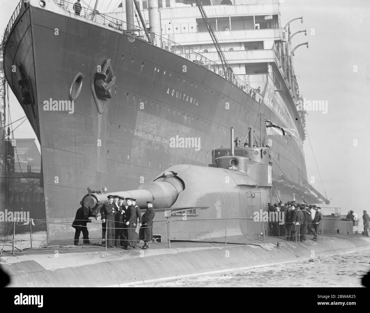
[[[96,229],[109,194],[135,198],[140,208],[152,201],[156,215],[150,249],[54,245],[3,253],[0,264],[10,276],[8,286],[145,286],[370,249],[369,237],[346,233],[351,221],[341,221],[345,227],[336,231],[322,227],[317,241],[271,236],[268,223],[255,218],[275,200],[269,147],[253,144],[252,128],[248,139],[240,145],[231,128],[231,146],[213,149],[208,167],[172,166],[134,190],[88,189],[81,201],[85,216],[97,220],[91,223]]]

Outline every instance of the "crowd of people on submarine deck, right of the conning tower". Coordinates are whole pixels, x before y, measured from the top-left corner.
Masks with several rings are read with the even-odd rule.
[[[305,241],[307,234],[313,235],[313,240],[317,240],[320,224],[323,220],[321,207],[316,205],[300,204],[295,200],[279,204],[271,205],[268,203],[269,211],[269,234],[272,236],[286,236],[288,241]],[[277,214],[274,212],[282,212],[283,220],[278,222],[274,218]]]

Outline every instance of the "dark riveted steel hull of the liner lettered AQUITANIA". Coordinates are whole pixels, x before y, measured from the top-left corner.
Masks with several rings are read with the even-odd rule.
[[[94,73],[108,59],[116,77],[112,97],[96,101]],[[260,129],[260,113],[279,123],[275,111],[194,62],[82,17],[23,3],[7,36],[4,71],[40,141],[49,242],[71,239],[87,187],[131,190],[175,164],[206,166],[212,148],[230,145],[230,126],[243,140],[249,126]],[[45,110],[45,101],[70,100],[78,73],[74,113]],[[23,104],[24,78],[31,104]],[[172,147],[176,136],[199,139],[199,149]],[[303,152],[292,137],[275,137],[276,161],[298,183],[307,177]],[[275,164],[273,171],[279,172]],[[100,238],[100,229],[91,233]]]

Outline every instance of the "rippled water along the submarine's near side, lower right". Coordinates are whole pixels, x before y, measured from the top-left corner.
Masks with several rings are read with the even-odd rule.
[[[277,264],[244,272],[146,284],[151,287],[362,287],[370,250],[317,257],[312,262]],[[141,285],[142,286],[142,285]]]

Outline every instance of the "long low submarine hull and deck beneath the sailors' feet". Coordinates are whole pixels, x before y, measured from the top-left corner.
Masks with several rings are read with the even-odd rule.
[[[253,267],[305,262],[370,249],[365,236],[324,235],[316,241],[287,242],[283,237],[228,237],[213,242],[150,243],[147,250],[104,246],[47,246],[3,252],[2,268],[10,287],[124,287],[164,280],[248,270]],[[279,243],[279,244],[278,244]]]

